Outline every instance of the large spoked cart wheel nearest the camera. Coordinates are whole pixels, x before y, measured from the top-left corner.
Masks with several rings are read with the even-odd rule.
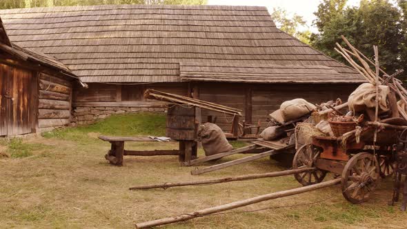
[[[379,182],[379,163],[368,152],[353,156],[342,172],[342,195],[350,203],[363,203],[370,197]]]

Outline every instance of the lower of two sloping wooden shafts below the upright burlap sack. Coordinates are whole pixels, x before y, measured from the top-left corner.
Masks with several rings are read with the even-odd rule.
[[[292,146],[290,146],[290,147],[292,147]],[[286,149],[286,148],[283,148],[283,149]],[[215,170],[220,170],[222,168],[228,168],[230,166],[236,166],[236,165],[239,165],[241,163],[246,163],[248,161],[254,161],[254,160],[257,160],[257,159],[261,159],[263,157],[268,157],[268,156],[271,156],[271,155],[277,155],[277,154],[283,152],[282,151],[283,149],[281,149],[281,150],[268,150],[266,152],[261,152],[258,155],[252,155],[252,156],[249,156],[249,157],[244,157],[244,158],[241,158],[241,159],[236,159],[236,160],[228,161],[228,162],[225,162],[225,163],[219,163],[218,165],[215,165],[215,166],[209,166],[209,167],[201,168],[201,169],[198,169],[198,170],[192,170],[191,174],[192,175],[199,175],[199,174],[206,173],[206,172],[212,172],[212,171],[215,171]]]

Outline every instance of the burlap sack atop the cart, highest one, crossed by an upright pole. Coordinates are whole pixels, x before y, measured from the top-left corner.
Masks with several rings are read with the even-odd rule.
[[[388,86],[379,86],[379,112],[389,110],[387,106]],[[362,83],[348,98],[349,110],[361,112],[376,107],[376,87],[372,83]]]

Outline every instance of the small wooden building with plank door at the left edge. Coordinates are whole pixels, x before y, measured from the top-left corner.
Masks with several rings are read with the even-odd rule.
[[[68,124],[75,80],[59,61],[10,42],[0,19],[0,136]]]

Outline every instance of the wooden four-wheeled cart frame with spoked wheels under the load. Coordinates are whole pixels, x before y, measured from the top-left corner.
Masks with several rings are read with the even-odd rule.
[[[360,139],[348,137],[313,137],[312,143],[297,150],[292,168],[317,168],[302,172],[295,179],[303,186],[319,183],[327,172],[341,176],[341,190],[351,203],[362,203],[375,190],[380,177],[393,174],[395,144],[399,132],[379,130],[373,143],[375,127],[361,129]]]

